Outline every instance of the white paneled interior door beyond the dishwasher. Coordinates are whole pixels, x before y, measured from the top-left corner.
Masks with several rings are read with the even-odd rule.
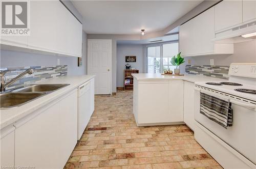
[[[111,94],[112,40],[88,39],[88,74],[95,75],[95,94]]]

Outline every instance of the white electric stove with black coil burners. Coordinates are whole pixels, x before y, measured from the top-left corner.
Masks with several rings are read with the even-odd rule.
[[[228,75],[228,81],[195,83],[195,138],[224,168],[256,168],[256,63],[233,63]],[[200,114],[202,91],[231,102],[232,127]]]

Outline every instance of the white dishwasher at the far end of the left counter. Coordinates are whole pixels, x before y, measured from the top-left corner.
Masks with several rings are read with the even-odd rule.
[[[84,129],[91,118],[91,84],[90,81],[83,83],[78,87],[77,99],[77,139],[82,136]]]

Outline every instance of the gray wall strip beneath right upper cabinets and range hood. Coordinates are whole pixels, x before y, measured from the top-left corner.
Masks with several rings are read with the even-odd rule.
[[[231,63],[256,63],[256,40],[234,44],[234,53],[228,55],[209,55],[202,57],[185,57],[185,63],[180,66],[181,72],[185,71],[188,60],[189,65],[210,65],[210,59],[214,59],[214,65],[229,66]]]

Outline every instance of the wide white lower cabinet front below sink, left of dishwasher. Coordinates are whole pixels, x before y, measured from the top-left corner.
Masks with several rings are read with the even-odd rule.
[[[63,168],[77,138],[77,90],[15,124],[15,165]]]

